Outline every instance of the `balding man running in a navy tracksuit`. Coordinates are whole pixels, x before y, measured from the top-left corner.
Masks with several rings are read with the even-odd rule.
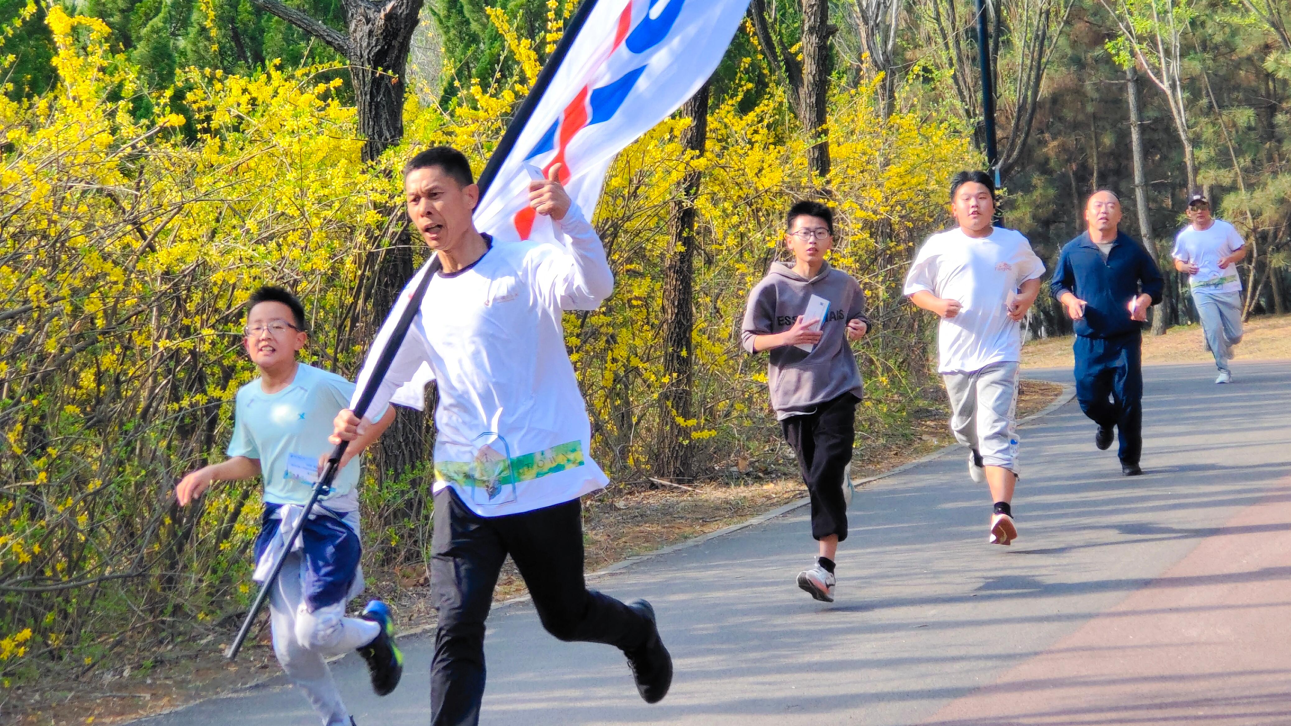
[[[1099,191],[1084,205],[1088,232],[1062,248],[1050,288],[1075,328],[1075,397],[1099,424],[1093,444],[1121,437],[1121,472],[1143,473],[1141,322],[1161,302],[1162,277],[1137,241],[1119,232],[1121,200]],[[1112,398],[1110,401],[1108,398]]]

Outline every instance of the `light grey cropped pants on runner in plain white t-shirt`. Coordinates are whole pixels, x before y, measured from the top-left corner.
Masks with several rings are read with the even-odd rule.
[[[972,373],[946,373],[950,431],[981,454],[988,467],[1017,468],[1017,361],[990,364]]]

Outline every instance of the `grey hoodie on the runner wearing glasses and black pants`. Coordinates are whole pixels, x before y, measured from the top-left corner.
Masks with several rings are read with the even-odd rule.
[[[782,262],[772,262],[767,276],[749,293],[744,308],[741,344],[754,352],[754,335],[784,333],[794,326],[799,315],[807,312],[807,300],[820,295],[829,300],[829,312],[821,324],[821,339],[812,352],[797,346],[781,346],[769,352],[767,383],[771,387],[771,407],[776,418],[784,420],[815,411],[818,404],[830,401],[851,391],[861,397],[861,373],[856,356],[847,344],[847,322],[864,320],[865,295],[851,275],[834,270],[826,262],[811,280],[794,272]]]

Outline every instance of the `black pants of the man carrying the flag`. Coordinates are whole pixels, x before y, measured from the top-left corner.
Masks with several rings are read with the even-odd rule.
[[[484,619],[507,553],[533,596],[542,627],[563,641],[634,649],[649,620],[582,579],[582,504],[480,517],[451,489],[435,495],[430,589],[439,611],[430,665],[434,726],[479,723],[484,698]]]

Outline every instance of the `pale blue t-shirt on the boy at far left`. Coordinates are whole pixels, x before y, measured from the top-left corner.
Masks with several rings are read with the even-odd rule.
[[[238,389],[230,456],[259,459],[265,502],[305,504],[314,482],[287,471],[289,454],[314,462],[332,445],[332,419],[350,405],[354,384],[334,373],[297,364],[296,378],[276,393],[265,393],[259,378]],[[325,500],[345,499],[359,482],[355,456],[336,475]],[[347,508],[347,507],[342,507]]]

